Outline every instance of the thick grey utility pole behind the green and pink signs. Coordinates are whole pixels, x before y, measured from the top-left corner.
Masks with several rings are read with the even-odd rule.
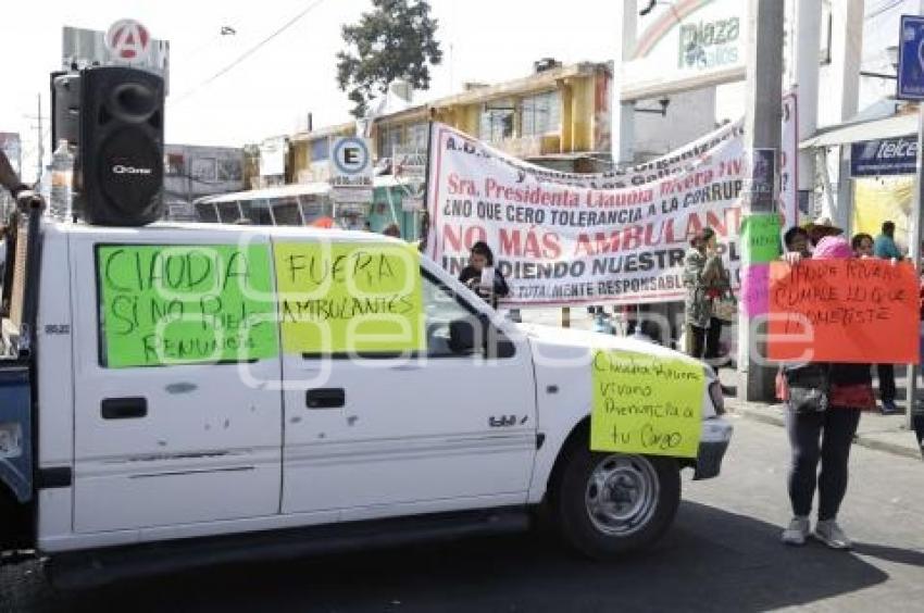
[[[747,100],[745,154],[748,176],[742,213],[771,213],[779,193],[779,122],[783,113],[783,22],[785,3],[749,0],[747,47]],[[739,365],[738,397],[745,401],[773,398],[775,371],[766,364],[765,343],[754,342],[765,334],[765,322],[738,320],[738,343],[746,360]]]

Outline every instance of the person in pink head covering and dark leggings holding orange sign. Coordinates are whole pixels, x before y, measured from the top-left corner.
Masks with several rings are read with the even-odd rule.
[[[813,259],[852,255],[847,239],[829,236],[819,241]],[[792,448],[788,490],[794,515],[783,530],[787,545],[804,545],[811,534],[833,549],[851,547],[837,513],[847,492],[850,446],[860,413],[875,406],[870,366],[808,363],[785,368],[786,430]],[[809,515],[815,489],[819,521],[812,531]]]

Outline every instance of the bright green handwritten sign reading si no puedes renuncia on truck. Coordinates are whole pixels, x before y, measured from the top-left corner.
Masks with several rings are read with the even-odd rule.
[[[109,367],[247,361],[278,354],[265,245],[97,248]]]

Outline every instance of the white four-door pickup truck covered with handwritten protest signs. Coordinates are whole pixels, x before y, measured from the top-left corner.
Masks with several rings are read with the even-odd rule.
[[[160,252],[246,243],[271,254],[248,264],[253,273],[272,267],[284,243],[374,250],[390,240],[22,221],[3,292],[0,551],[12,560],[12,551],[34,550],[54,583],[86,586],[216,561],[522,529],[541,515],[579,550],[608,558],[670,526],[683,468],[694,478],[719,474],[732,427],[708,366],[698,458],[591,452],[592,352],[677,354],[514,324],[426,258],[426,338],[410,360],[280,350],[246,363],[184,362],[197,349],[170,343],[143,348],[179,355],[160,364],[115,354],[116,331],[130,336],[145,306],[113,308],[104,280],[141,296],[145,279],[196,276],[188,258],[189,268],[183,258],[173,272],[160,268]],[[135,259],[117,263],[126,253]],[[215,310],[209,325],[247,316],[237,309]],[[280,336],[278,317],[263,325]]]

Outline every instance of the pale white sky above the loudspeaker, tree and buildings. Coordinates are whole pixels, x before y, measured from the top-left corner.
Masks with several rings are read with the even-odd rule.
[[[0,132],[23,137],[24,174],[34,173],[37,95],[48,125],[48,75],[61,64],[64,25],[105,30],[140,21],[171,46],[166,141],[241,146],[303,126],[350,120],[337,89],[340,28],[371,9],[370,0],[321,0],[303,18],[224,76],[230,64],[317,0],[4,0],[0,9]],[[617,40],[615,0],[432,0],[444,62],[429,92],[458,91],[465,82],[496,83],[529,74],[533,61],[604,61]],[[222,26],[234,36],[220,36]]]

